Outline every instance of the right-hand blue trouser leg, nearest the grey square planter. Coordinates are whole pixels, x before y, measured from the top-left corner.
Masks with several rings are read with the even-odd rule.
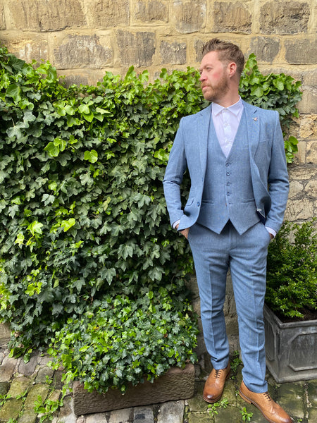
[[[263,305],[266,293],[266,257],[270,235],[262,223],[239,235],[232,227],[230,272],[237,308],[240,348],[247,387],[267,391]]]

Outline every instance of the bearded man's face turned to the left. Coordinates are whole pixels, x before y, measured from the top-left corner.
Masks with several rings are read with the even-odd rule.
[[[219,103],[229,91],[226,66],[218,59],[218,51],[205,54],[199,68],[201,90],[209,102]]]

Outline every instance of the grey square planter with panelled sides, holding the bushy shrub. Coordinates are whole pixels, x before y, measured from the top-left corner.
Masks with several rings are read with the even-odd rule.
[[[266,365],[275,381],[317,379],[317,320],[282,323],[264,305]]]

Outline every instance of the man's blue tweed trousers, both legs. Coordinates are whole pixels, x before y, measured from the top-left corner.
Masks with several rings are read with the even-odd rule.
[[[244,366],[243,380],[251,391],[266,392],[263,305],[270,234],[261,222],[242,235],[230,221],[220,234],[195,223],[189,230],[188,240],[199,287],[204,341],[213,368],[224,369],[229,360],[223,304],[230,269]]]

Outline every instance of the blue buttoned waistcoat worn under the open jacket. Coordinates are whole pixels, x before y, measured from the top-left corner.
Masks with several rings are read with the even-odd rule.
[[[245,111],[228,157],[220,147],[212,119],[209,123],[206,176],[197,223],[220,233],[229,220],[240,235],[259,222],[252,188]]]

